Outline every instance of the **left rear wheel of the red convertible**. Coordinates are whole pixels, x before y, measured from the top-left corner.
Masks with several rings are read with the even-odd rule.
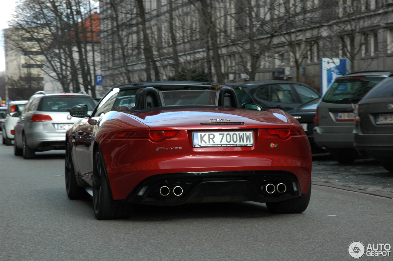
[[[127,219],[132,211],[132,204],[112,199],[105,162],[101,153],[95,153],[93,165],[93,205],[97,219]]]

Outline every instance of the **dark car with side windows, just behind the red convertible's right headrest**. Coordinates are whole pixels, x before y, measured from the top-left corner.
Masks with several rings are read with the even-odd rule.
[[[320,98],[321,95],[306,84],[280,80],[262,80],[228,83],[238,97],[239,104],[245,102],[261,106],[263,110],[291,110],[299,105]]]

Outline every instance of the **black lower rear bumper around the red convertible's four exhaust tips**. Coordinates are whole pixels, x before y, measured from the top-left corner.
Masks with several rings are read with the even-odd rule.
[[[285,192],[264,192],[266,184],[283,183]],[[159,193],[162,186],[169,195]],[[180,186],[181,195],[173,188]],[[143,195],[138,195],[146,188]],[[209,202],[275,202],[300,196],[298,179],[293,173],[282,171],[171,173],[154,175],[143,180],[125,199],[126,202],[153,205],[180,205]]]

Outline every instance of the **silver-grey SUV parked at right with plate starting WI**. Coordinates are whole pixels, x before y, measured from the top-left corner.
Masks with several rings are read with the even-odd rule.
[[[363,71],[338,77],[331,84],[316,112],[314,141],[340,163],[360,155],[353,146],[354,109],[363,96],[393,71]]]

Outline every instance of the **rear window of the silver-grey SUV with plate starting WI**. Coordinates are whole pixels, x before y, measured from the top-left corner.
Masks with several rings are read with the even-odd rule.
[[[384,79],[386,77],[365,76],[336,79],[322,101],[340,104],[358,103],[371,88]]]

